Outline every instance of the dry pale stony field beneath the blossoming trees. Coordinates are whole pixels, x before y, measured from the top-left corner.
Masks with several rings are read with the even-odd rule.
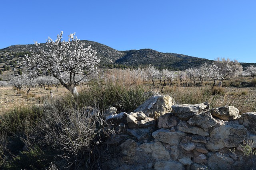
[[[160,93],[160,89],[153,87],[152,85],[144,85],[147,90],[150,89],[154,92]],[[77,86],[78,91],[82,88]],[[210,88],[210,86],[208,87]],[[220,95],[203,96],[207,87],[175,87],[165,86],[164,94],[168,94],[174,98],[178,103],[193,104],[196,102],[196,98],[205,98],[206,101],[212,103],[214,107],[220,107],[224,105],[235,106],[240,110],[240,113],[248,111],[256,111],[256,88],[255,87],[224,87],[223,93]],[[63,96],[69,94],[66,88],[60,86],[58,92],[56,87],[50,86],[44,88],[31,88],[29,95],[26,94],[26,88],[22,88],[21,91],[15,90],[13,87],[0,87],[0,115],[10,111],[14,107],[32,106],[37,105],[39,99],[42,96],[50,96],[50,91],[53,92],[54,97]],[[163,93],[162,93],[163,94]],[[186,98],[186,100],[184,99]],[[191,99],[190,99],[191,98]],[[204,100],[201,99],[200,100]],[[191,102],[191,100],[193,100]]]

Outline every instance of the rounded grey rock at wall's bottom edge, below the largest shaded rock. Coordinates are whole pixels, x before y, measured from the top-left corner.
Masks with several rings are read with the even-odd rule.
[[[234,160],[220,152],[213,153],[208,159],[208,166],[212,170],[231,170],[232,164],[234,164]]]

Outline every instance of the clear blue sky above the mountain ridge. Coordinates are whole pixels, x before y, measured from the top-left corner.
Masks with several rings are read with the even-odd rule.
[[[0,49],[64,39],[256,63],[255,0],[3,0]]]

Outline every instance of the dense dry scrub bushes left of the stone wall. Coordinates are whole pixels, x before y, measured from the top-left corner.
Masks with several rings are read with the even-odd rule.
[[[10,151],[7,159],[1,154],[1,168],[37,169],[54,165],[60,169],[101,169],[101,162],[118,152],[117,149],[110,153],[104,142],[115,135],[104,121],[104,109],[119,102],[123,109],[120,111],[130,112],[146,100],[145,90],[141,86],[127,86],[129,82],[94,78],[78,96],[41,97],[40,106],[16,108],[3,115],[0,130],[20,141],[20,152]],[[9,148],[3,150],[8,152]],[[23,160],[27,160],[29,167],[19,163]]]

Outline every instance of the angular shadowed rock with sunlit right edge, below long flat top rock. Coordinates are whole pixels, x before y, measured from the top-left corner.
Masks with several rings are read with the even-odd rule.
[[[208,113],[201,113],[199,115],[194,115],[188,120],[190,125],[199,126],[207,132],[210,132],[212,127],[216,126],[218,121]]]

